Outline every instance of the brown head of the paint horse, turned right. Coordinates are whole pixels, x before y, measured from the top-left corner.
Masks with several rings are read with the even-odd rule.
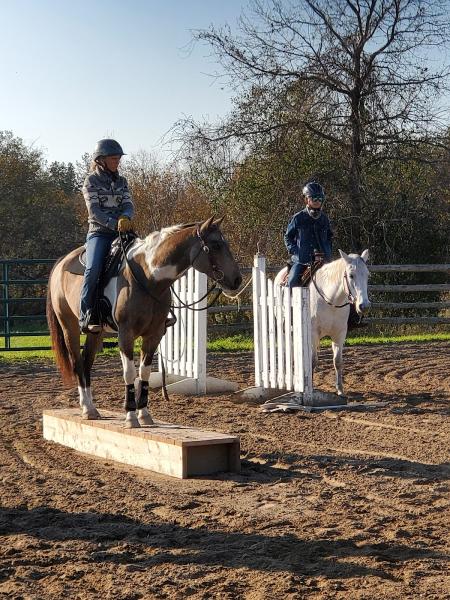
[[[191,264],[227,289],[237,290],[242,283],[239,266],[220,230],[221,219],[211,217],[196,228],[198,243],[191,249]]]

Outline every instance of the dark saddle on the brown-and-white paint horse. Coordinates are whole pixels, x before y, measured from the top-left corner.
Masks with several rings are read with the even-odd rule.
[[[96,310],[99,313],[99,321],[108,325],[115,331],[117,330],[117,327],[112,316],[111,302],[104,295],[104,290],[111,279],[113,277],[117,277],[122,266],[123,252],[120,238],[122,238],[123,248],[125,252],[127,252],[128,248],[134,242],[136,237],[137,236],[134,232],[122,233],[113,241],[109,254],[106,257],[105,264],[103,265],[103,271],[97,289]],[[72,259],[67,267],[67,270],[69,273],[73,273],[74,275],[84,275],[85,268],[86,250],[82,250]]]

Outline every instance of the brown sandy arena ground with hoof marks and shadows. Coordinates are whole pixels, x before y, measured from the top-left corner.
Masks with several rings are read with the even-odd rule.
[[[210,373],[245,387],[251,361]],[[49,362],[1,364],[0,598],[449,598],[449,366],[445,343],[348,348],[351,399],[388,402],[373,411],[155,394],[156,418],[241,437],[240,475],[180,481],[45,442],[42,410],[76,389]],[[120,409],[120,360],[95,378]]]

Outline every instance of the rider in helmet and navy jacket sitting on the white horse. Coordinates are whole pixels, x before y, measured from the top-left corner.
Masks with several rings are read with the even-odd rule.
[[[317,253],[326,262],[331,260],[333,232],[330,220],[322,210],[325,202],[323,187],[311,181],[303,188],[303,197],[306,206],[293,216],[284,236],[293,263],[287,283],[291,288],[300,285],[302,274],[314,262]]]

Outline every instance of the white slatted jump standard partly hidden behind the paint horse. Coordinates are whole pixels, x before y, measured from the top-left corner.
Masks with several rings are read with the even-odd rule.
[[[206,394],[235,391],[231,381],[208,377],[206,371],[207,277],[189,269],[173,285],[174,314],[177,322],[169,327],[160,343],[158,373],[150,376],[150,386],[162,383],[162,360],[166,369],[167,389],[180,394]],[[184,307],[186,304],[192,309]]]

